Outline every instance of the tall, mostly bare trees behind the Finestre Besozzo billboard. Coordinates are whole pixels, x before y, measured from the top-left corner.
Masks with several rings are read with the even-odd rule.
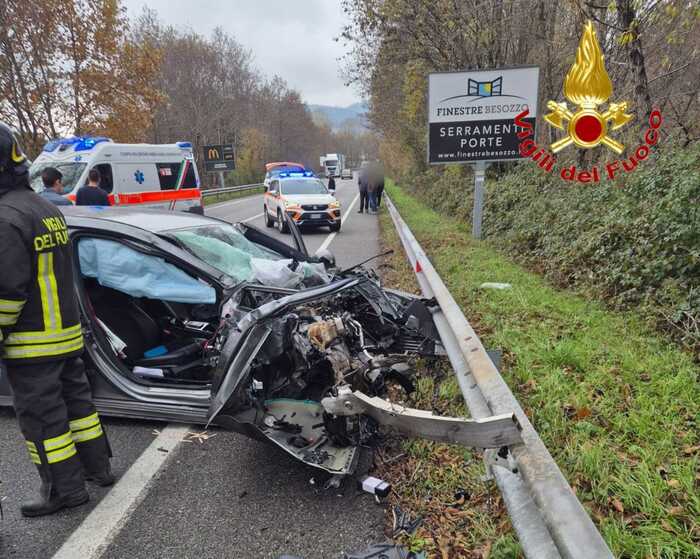
[[[628,133],[638,136],[635,126],[654,106],[681,145],[700,139],[696,0],[344,0],[344,8],[346,77],[370,100],[383,158],[395,171],[426,167],[428,73],[536,64],[544,107],[563,100],[586,20],[598,29],[615,97],[638,115]]]

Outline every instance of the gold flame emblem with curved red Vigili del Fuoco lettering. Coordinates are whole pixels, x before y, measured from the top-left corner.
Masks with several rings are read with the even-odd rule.
[[[521,128],[518,138],[520,153],[528,157],[551,173],[556,166],[554,154],[573,145],[578,148],[592,149],[605,146],[618,155],[625,152],[625,146],[614,137],[614,132],[624,127],[633,116],[627,112],[627,101],[610,102],[605,110],[600,110],[613,95],[612,82],[605,70],[605,57],[600,50],[593,24],[586,23],[581,41],[576,51],[576,61],[564,78],[564,97],[575,106],[570,109],[564,103],[549,101],[549,113],[545,121],[564,135],[552,143],[551,151],[538,146],[532,136],[532,124],[524,119],[529,110],[515,117],[515,124]],[[600,182],[601,178],[614,179],[620,172],[631,172],[649,156],[649,148],[659,141],[659,128],[663,122],[661,112],[654,109],[649,115],[649,128],[644,134],[644,143],[634,153],[623,159],[616,159],[604,165],[601,170],[594,166],[590,170],[579,170],[575,165],[560,169],[562,179],[582,183]]]

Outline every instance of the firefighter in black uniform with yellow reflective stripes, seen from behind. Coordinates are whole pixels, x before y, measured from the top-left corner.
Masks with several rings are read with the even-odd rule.
[[[114,483],[107,437],[80,355],[83,335],[63,215],[29,186],[27,160],[0,122],[0,355],[40,497],[25,516],[88,500],[85,479]]]

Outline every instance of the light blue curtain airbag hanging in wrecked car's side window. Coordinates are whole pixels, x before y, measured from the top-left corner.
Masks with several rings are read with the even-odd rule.
[[[162,258],[143,254],[105,239],[85,239],[78,245],[80,271],[100,285],[132,297],[174,303],[216,302],[213,287],[193,278]]]

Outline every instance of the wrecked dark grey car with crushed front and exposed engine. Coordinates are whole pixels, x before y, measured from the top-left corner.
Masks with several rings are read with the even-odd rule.
[[[511,416],[435,416],[388,401],[442,353],[430,302],[337,270],[246,224],[122,208],[65,210],[85,361],[102,414],[216,424],[333,474],[380,429],[483,448]],[[0,379],[0,404],[11,405]]]

